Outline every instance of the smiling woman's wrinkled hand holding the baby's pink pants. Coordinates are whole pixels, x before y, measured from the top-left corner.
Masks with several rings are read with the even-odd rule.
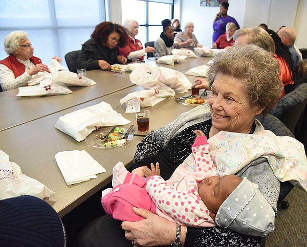
[[[133,211],[145,219],[122,222],[125,237],[137,246],[170,245],[176,238],[176,223],[170,222],[145,209],[133,207]],[[184,243],[187,227],[181,227],[181,243]]]

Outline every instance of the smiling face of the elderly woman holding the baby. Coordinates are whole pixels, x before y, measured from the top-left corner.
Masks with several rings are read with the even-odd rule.
[[[217,73],[211,91],[208,103],[212,115],[212,131],[249,133],[261,110],[252,106],[245,84],[231,75]]]

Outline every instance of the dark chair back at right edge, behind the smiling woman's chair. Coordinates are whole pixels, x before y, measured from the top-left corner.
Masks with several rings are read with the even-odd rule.
[[[270,114],[277,117],[294,134],[295,126],[307,103],[307,83],[298,85],[292,92],[283,96]]]

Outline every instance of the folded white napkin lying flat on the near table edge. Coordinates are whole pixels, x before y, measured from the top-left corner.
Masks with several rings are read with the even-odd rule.
[[[56,163],[67,185],[89,181],[105,169],[85,150],[63,151],[55,154]]]

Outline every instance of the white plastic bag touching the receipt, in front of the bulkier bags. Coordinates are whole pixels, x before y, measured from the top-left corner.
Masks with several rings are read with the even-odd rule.
[[[154,106],[170,96],[172,95],[163,89],[144,89],[126,95],[120,100],[120,103],[123,104],[128,100],[136,98],[142,107],[148,107]]]

